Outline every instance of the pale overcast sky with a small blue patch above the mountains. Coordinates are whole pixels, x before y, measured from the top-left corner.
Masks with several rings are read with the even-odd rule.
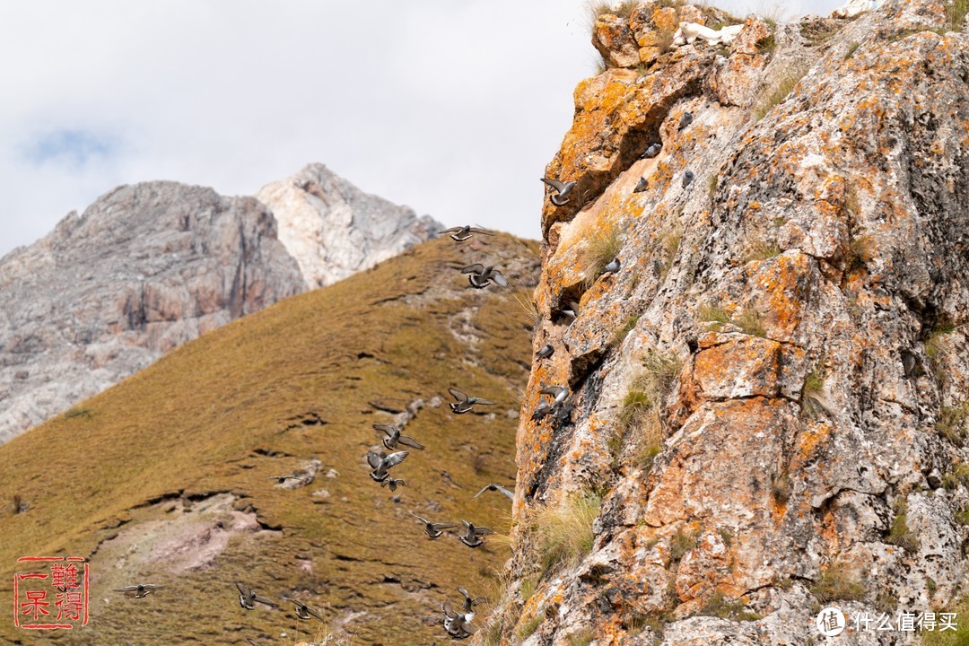
[[[4,2],[0,255],[118,184],[252,195],[309,162],[449,225],[538,237],[539,177],[598,58],[586,5]]]

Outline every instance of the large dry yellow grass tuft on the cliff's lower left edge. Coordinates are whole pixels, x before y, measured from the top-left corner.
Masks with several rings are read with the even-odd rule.
[[[592,522],[601,506],[600,496],[586,493],[534,512],[529,524],[538,538],[543,571],[571,567],[592,551]]]

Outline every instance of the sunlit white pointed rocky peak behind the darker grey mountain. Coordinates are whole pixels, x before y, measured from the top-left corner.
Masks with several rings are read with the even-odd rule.
[[[323,164],[266,185],[256,196],[279,222],[279,240],[308,289],[346,278],[433,237],[443,226],[360,191]]]

